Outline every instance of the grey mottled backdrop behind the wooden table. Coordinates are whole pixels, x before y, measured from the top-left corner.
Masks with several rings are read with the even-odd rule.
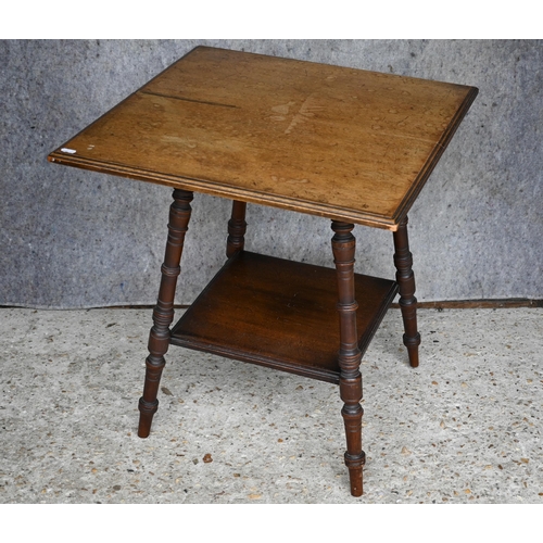
[[[421,301],[543,298],[543,41],[0,41],[0,304],[152,304],[171,189],[47,154],[197,45],[472,85],[411,217]],[[229,203],[197,195],[178,303],[224,262]],[[248,249],[331,266],[329,222],[251,205]],[[393,277],[390,232],[356,227],[357,270]]]

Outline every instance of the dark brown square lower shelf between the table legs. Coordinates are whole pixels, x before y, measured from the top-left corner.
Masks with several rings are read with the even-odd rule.
[[[357,332],[367,349],[397,285],[355,274]],[[339,382],[336,269],[242,251],[172,330],[174,345]]]

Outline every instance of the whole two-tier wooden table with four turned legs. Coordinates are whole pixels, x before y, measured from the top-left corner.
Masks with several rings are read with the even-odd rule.
[[[362,495],[361,357],[400,290],[403,339],[418,365],[407,212],[476,94],[198,47],[49,155],[174,188],[141,438],[169,344],[339,383],[351,493]],[[233,201],[227,261],[171,329],[193,191]],[[244,251],[248,202],[330,219],[336,269]],[[354,273],[355,224],[393,232],[397,282]]]

